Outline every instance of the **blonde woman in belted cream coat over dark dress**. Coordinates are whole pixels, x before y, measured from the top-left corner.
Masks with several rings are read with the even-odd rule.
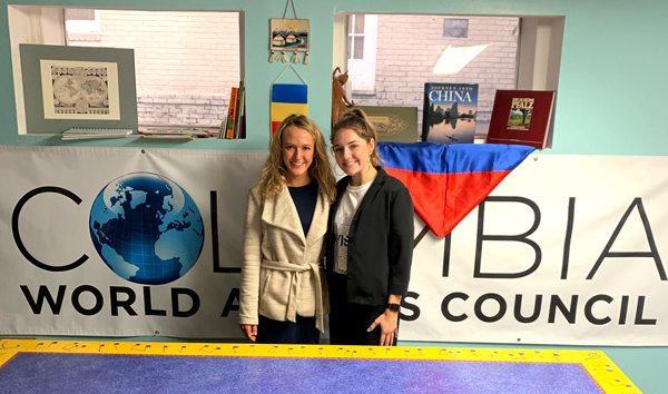
[[[248,196],[239,307],[248,339],[318,343],[328,313],[323,257],[335,193],[320,127],[288,116]]]

